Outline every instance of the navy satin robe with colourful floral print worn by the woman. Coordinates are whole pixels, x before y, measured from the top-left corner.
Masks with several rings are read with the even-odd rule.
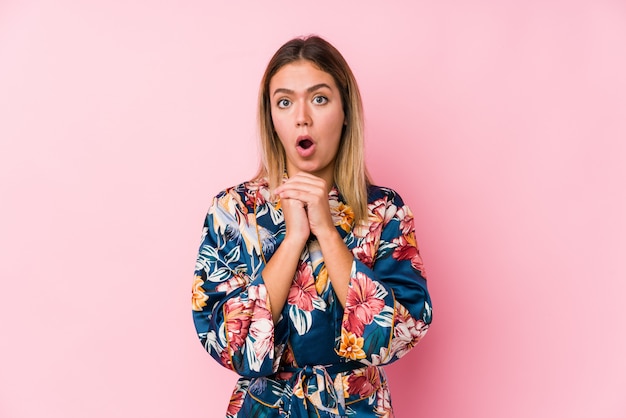
[[[266,182],[219,193],[204,224],[193,319],[205,349],[241,378],[226,417],[393,417],[383,364],[417,344],[431,322],[413,215],[393,190],[370,186],[368,220],[334,188],[337,231],[354,254],[345,309],[319,243],[304,248],[274,324],[261,273],[285,236]]]

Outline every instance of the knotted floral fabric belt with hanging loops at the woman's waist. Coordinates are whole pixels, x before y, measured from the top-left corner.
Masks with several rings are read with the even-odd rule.
[[[363,364],[344,363],[330,366],[304,366],[302,368],[285,367],[284,371],[293,372],[286,390],[281,396],[280,413],[290,418],[307,417],[308,404],[317,410],[331,413],[337,417],[346,415],[343,379],[337,374],[335,380],[330,374],[340,373]]]

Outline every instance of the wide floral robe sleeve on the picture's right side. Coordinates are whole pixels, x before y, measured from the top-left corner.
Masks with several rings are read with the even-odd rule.
[[[352,250],[336,351],[348,360],[380,365],[420,341],[432,309],[410,209],[392,191],[368,206],[369,223]]]

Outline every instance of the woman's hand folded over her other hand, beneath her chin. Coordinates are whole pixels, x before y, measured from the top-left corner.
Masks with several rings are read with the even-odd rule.
[[[308,220],[308,229],[316,237],[319,238],[320,235],[328,232],[336,232],[328,205],[328,186],[324,179],[300,172],[277,187],[274,193],[280,196],[281,202],[287,201],[293,206],[296,206],[295,202],[298,202],[301,205]],[[293,206],[289,208],[290,211],[294,209]],[[285,223],[287,223],[286,216],[285,214]],[[287,225],[287,230],[289,231],[289,225]]]

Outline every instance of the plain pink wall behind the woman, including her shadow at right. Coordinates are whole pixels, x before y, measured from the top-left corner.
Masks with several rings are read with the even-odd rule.
[[[346,56],[434,323],[398,417],[626,416],[626,3],[0,2],[0,417],[222,417],[210,198],[255,171],[271,54]]]

